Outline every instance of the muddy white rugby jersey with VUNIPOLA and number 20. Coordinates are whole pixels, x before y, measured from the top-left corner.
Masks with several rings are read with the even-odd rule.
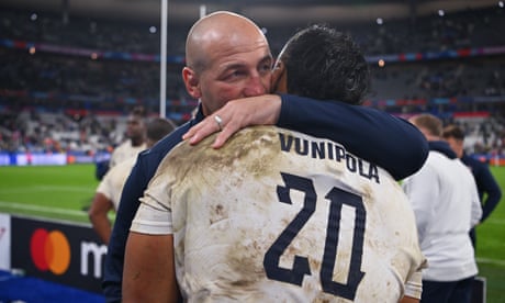
[[[397,302],[408,280],[420,296],[414,214],[386,171],[273,126],[214,138],[172,149],[131,229],[173,233],[187,300]]]

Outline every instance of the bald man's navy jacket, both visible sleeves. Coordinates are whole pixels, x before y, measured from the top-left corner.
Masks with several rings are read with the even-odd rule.
[[[278,126],[338,142],[348,152],[384,168],[397,180],[416,172],[428,156],[428,144],[423,134],[403,119],[341,102],[315,102],[287,94],[281,97]],[[138,199],[143,197],[165,155],[181,142],[182,134],[202,119],[200,110],[194,120],[138,155],[123,189],[105,257],[102,288],[106,302],[121,301],[124,250],[131,223],[139,205]]]

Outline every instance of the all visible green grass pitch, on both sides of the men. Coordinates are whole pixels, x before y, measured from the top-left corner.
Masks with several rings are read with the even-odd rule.
[[[505,303],[505,167],[492,171],[504,198],[476,228],[476,258],[487,302]],[[97,186],[93,165],[0,167],[0,213],[89,224],[86,210]]]

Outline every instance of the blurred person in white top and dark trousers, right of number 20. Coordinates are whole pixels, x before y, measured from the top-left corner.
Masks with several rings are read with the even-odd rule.
[[[442,139],[438,117],[419,114],[409,121],[425,135],[430,149],[423,168],[403,182],[428,260],[420,302],[470,303],[478,267],[468,234],[482,216],[476,184]]]

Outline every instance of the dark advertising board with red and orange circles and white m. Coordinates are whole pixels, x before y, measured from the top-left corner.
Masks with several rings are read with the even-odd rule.
[[[11,268],[101,293],[106,246],[90,226],[11,217]]]

